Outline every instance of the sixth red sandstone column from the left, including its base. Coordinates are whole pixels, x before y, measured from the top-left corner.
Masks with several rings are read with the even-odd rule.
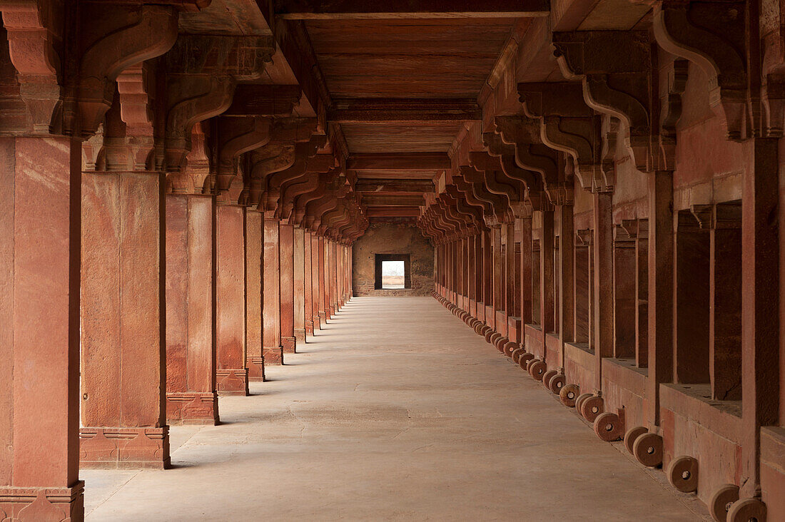
[[[281,346],[281,287],[280,287],[280,243],[277,219],[265,217],[264,293],[262,316],[262,339],[265,363],[283,364]]]

